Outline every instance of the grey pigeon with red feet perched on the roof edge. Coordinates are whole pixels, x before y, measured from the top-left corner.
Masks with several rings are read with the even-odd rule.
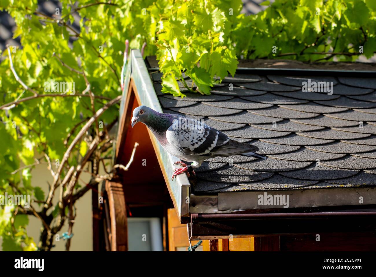
[[[188,177],[190,171],[196,175],[194,168],[200,167],[206,159],[216,156],[267,158],[255,153],[259,150],[258,147],[230,139],[202,121],[185,116],[159,113],[147,106],[139,106],[133,110],[132,128],[137,122],[144,123],[168,153],[182,161],[192,162],[190,165],[182,161],[175,162],[174,165],[180,164],[182,167],[174,170],[171,180],[184,172]]]

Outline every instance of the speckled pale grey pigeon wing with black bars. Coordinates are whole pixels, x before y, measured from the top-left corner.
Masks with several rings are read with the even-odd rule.
[[[167,141],[185,155],[205,155],[229,137],[201,121],[179,117],[166,132]]]

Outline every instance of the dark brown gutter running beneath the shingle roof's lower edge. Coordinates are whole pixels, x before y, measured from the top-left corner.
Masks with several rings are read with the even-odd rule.
[[[190,240],[375,230],[376,208],[322,213],[191,214],[188,224]]]

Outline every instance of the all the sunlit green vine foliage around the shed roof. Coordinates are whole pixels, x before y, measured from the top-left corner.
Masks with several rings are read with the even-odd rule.
[[[62,161],[93,109],[121,94],[126,39],[131,48],[147,43],[144,56],[156,55],[163,73],[162,92],[182,97],[184,91],[210,94],[211,87],[235,73],[240,58],[353,61],[361,54],[369,58],[376,50],[374,0],[276,0],[271,5],[265,1],[262,5],[269,7],[251,16],[240,14],[241,0],[61,3],[60,14],[48,17],[36,12],[37,0],[0,0],[0,10],[9,12],[17,24],[14,37],[21,38],[21,47],[11,51],[14,68],[40,95],[0,109],[0,194],[30,194],[39,208],[47,195],[40,187],[32,187],[33,169],[40,166],[38,162],[46,164],[50,159],[56,170],[55,163]],[[74,12],[81,18],[79,32],[71,28]],[[361,46],[364,53],[359,53]],[[2,56],[0,106],[32,97],[15,79],[6,58],[8,51]],[[94,106],[88,93],[77,96],[87,84],[85,76],[75,70],[84,72],[91,84],[97,97]],[[76,95],[44,97],[73,94],[47,91],[46,83],[51,80],[75,82]],[[117,114],[118,108],[111,106],[98,121],[108,125]],[[74,146],[60,179],[87,153],[95,125]],[[77,181],[74,190],[80,187],[86,186]],[[54,203],[44,212],[55,219],[69,211]],[[35,250],[24,228],[28,220],[20,213],[14,205],[0,206],[3,249]]]

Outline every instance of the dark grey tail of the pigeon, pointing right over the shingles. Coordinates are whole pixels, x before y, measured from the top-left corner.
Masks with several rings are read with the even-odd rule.
[[[241,143],[230,139],[226,144],[220,147],[215,147],[207,156],[231,156],[231,155],[241,155],[248,157],[255,157],[259,159],[266,159],[267,157],[255,153],[259,148],[252,144]]]

